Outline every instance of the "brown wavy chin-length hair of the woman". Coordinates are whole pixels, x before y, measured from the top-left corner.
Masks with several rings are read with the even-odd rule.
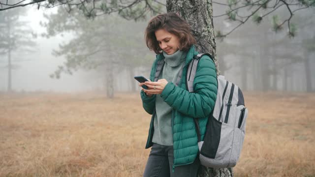
[[[164,13],[150,20],[144,34],[148,48],[156,54],[162,53],[155,34],[158,29],[165,29],[167,32],[175,34],[180,41],[178,46],[180,51],[188,51],[191,45],[196,44],[196,39],[192,36],[190,27],[185,20],[176,13]]]

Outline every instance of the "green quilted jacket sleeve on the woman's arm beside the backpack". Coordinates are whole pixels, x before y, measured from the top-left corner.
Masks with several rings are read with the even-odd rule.
[[[193,118],[208,117],[217,99],[218,81],[212,59],[200,59],[193,82],[194,92],[176,87],[169,82],[161,93],[162,99],[172,108]]]

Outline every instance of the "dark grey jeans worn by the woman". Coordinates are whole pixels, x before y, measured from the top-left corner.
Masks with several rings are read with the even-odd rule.
[[[199,158],[192,164],[177,166],[173,170],[173,146],[153,144],[143,177],[197,177]]]

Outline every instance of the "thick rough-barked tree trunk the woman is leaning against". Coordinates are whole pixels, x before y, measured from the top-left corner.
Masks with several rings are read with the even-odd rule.
[[[167,12],[178,13],[189,24],[193,36],[197,40],[197,51],[210,53],[215,59],[217,74],[219,74],[216,56],[215,30],[213,27],[212,0],[166,0]],[[200,168],[199,177],[233,177],[233,171],[228,169]]]

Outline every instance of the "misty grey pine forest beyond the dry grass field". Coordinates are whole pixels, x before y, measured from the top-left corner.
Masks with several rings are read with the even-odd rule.
[[[268,5],[272,6],[272,3],[270,1]],[[228,7],[220,3],[213,6],[217,35],[230,32],[216,40],[221,75],[243,90],[315,90],[315,77],[312,77],[315,74],[313,8],[296,11],[290,17],[292,36],[288,34],[286,24],[277,28],[290,15],[285,5],[276,9],[274,16],[265,16],[260,21],[252,16],[232,32],[231,29],[239,23],[237,19],[233,20],[234,14],[227,14]],[[141,4],[137,8],[140,7]],[[161,5],[156,8],[161,13],[166,12]],[[251,12],[251,8],[241,8],[236,15]],[[37,14],[44,14],[42,18],[28,18],[28,13],[35,10],[28,6],[1,11],[1,91],[62,91],[54,90],[57,87],[29,85],[36,80],[43,85],[49,82],[63,85],[66,84],[62,82],[63,75],[70,74],[73,78],[80,75],[81,79],[76,81],[82,88],[78,84],[76,91],[98,90],[110,96],[117,91],[136,91],[138,87],[133,76],[148,76],[155,59],[155,53],[148,50],[144,40],[150,13],[138,19],[128,17],[128,13],[138,15],[133,11],[87,17],[79,9],[72,8],[68,12],[66,6],[56,6],[53,9],[39,8],[41,13]],[[264,14],[268,8],[258,12],[258,15]],[[33,21],[37,26],[32,27],[30,22],[34,24]],[[55,62],[54,66],[38,66],[44,68],[28,76],[29,70],[38,69],[38,60],[57,59],[60,62]],[[54,79],[61,81],[52,81]],[[89,88],[85,87],[86,82],[89,82]]]

